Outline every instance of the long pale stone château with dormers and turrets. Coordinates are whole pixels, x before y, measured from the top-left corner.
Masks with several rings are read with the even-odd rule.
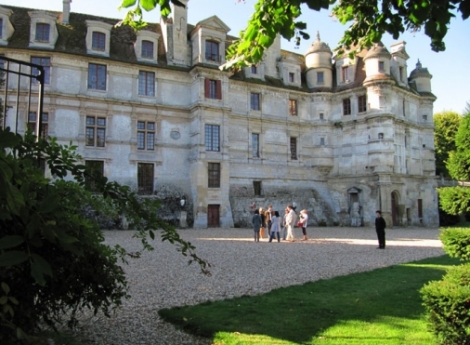
[[[268,204],[305,208],[313,225],[371,225],[377,209],[390,225],[438,225],[432,76],[419,61],[408,73],[405,42],[349,58],[319,36],[303,56],[278,38],[257,66],[228,72],[230,29],[217,16],[190,25],[184,8],[139,33],[68,1],[0,18],[0,54],[46,66],[48,135],[173,205],[170,221],[184,196],[194,228],[249,226]],[[21,85],[16,103],[8,80],[5,124],[24,133]]]

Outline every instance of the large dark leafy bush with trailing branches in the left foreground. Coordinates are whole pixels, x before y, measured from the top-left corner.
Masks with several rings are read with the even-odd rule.
[[[147,237],[162,229],[162,240],[177,244],[207,273],[194,247],[158,219],[158,201],[139,200],[128,187],[93,176],[74,150],[0,128],[0,342],[27,338],[44,322],[74,326],[83,309],[109,315],[127,297],[119,262],[135,253],[103,244],[84,207],[125,215],[143,249],[153,249]],[[38,157],[53,180],[44,177]],[[94,180],[100,197],[85,190],[85,178]]]

